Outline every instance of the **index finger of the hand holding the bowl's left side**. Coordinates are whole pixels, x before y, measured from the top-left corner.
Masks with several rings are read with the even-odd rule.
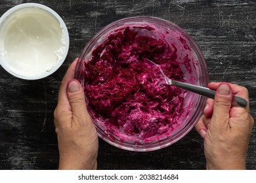
[[[77,64],[78,58],[76,58],[73,63],[68,67],[66,74],[64,75],[62,82],[60,84],[60,90],[58,91],[58,104],[69,106],[68,96],[66,94],[67,84],[70,80],[74,78],[75,66]]]

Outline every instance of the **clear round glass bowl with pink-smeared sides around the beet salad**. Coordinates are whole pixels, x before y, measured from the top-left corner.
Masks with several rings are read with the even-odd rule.
[[[182,71],[183,81],[205,87],[209,82],[209,78],[203,54],[192,37],[190,37],[186,31],[181,29],[181,27],[178,27],[177,25],[161,18],[138,16],[123,18],[104,27],[102,30],[96,33],[91,41],[88,42],[88,44],[83,49],[83,52],[81,52],[81,55],[79,56],[79,60],[75,69],[75,78],[81,82],[85,90],[87,108],[96,126],[98,136],[104,141],[118,148],[135,152],[146,152],[165,148],[166,146],[169,146],[182,139],[182,137],[184,137],[194,127],[196,122],[198,122],[205,105],[205,97],[192,92],[183,92],[182,96],[184,97],[184,100],[181,103],[182,109],[180,110],[179,114],[177,113],[176,117],[174,116],[177,122],[171,125],[169,129],[165,129],[163,133],[156,133],[155,135],[144,137],[141,137],[141,134],[139,135],[139,133],[137,134],[134,132],[137,130],[136,127],[133,133],[127,133],[127,131],[124,130],[125,125],[119,125],[119,123],[122,122],[118,121],[118,124],[116,124],[116,122],[112,123],[112,121],[106,122],[106,120],[103,120],[106,116],[104,117],[103,115],[102,117],[102,112],[100,113],[96,107],[92,107],[92,103],[89,100],[89,98],[91,98],[93,95],[92,93],[95,91],[91,90],[91,93],[89,93],[85,85],[88,83],[88,72],[93,73],[93,70],[95,70],[96,67],[91,67],[91,71],[87,72],[87,69],[89,69],[87,67],[88,63],[91,61],[96,63],[97,59],[102,57],[106,50],[110,49],[109,47],[104,47],[104,45],[106,46],[107,44],[106,42],[119,39],[118,37],[120,37],[120,35],[121,37],[129,37],[129,35],[122,35],[125,34],[125,29],[136,31],[137,36],[148,37],[150,39],[153,38],[166,42],[171,50],[174,50],[176,53],[174,58]],[[134,37],[130,41],[135,41]],[[113,44],[114,47],[116,46],[116,48],[119,48],[119,43],[117,41],[116,44]],[[128,54],[131,54],[131,52]],[[138,57],[140,58],[140,56]],[[147,56],[144,55],[144,57],[146,58]],[[150,56],[148,59],[154,59],[154,56]],[[108,58],[106,58],[106,62],[108,61]],[[121,60],[119,60],[119,57],[117,57],[116,60],[112,60],[112,63],[119,61]],[[133,58],[128,62],[133,62]],[[106,67],[108,67],[108,64],[106,64]],[[101,74],[105,75],[107,73],[108,72]],[[104,82],[104,78],[102,80],[103,81],[98,82],[98,84],[102,84]],[[129,86],[127,86],[127,88],[129,88]],[[102,93],[104,92],[106,91],[102,91]],[[111,92],[106,93],[106,95],[111,95]],[[123,100],[125,101],[126,99]],[[100,103],[100,101],[98,102]],[[106,111],[109,111],[109,108],[110,107],[106,105]],[[123,110],[127,110],[127,108],[124,108]],[[106,115],[108,116],[109,114]],[[111,114],[111,116],[115,115],[116,114]],[[150,120],[154,119],[154,114],[152,115],[153,117]]]

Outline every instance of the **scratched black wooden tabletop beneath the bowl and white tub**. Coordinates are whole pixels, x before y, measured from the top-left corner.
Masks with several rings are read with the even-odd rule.
[[[0,16],[32,1],[2,0]],[[33,1],[53,8],[70,33],[66,61],[51,76],[20,80],[0,67],[0,169],[56,169],[53,125],[58,87],[73,59],[102,27],[129,16],[157,16],[192,35],[202,49],[210,81],[249,89],[256,116],[256,1]],[[255,127],[247,169],[256,169]],[[181,141],[155,152],[129,152],[100,140],[98,169],[205,169],[203,141],[195,129]]]

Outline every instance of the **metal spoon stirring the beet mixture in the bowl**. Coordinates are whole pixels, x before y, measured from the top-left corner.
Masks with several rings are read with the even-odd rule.
[[[165,76],[165,74],[163,73],[163,71],[161,70],[159,65],[157,65],[156,63],[154,63],[150,59],[148,59],[148,61],[150,63],[152,63],[153,65],[155,65],[156,67],[158,67],[158,69],[161,72],[161,75],[163,75],[165,77],[165,79],[167,80],[167,84],[171,84],[171,85],[177,86],[179,88],[182,88],[184,90],[188,90],[190,92],[198,93],[198,94],[203,95],[205,97],[209,97],[211,99],[214,99],[216,91],[210,90],[209,88],[205,88],[205,87],[202,87],[202,86],[196,86],[194,84],[188,84],[188,83],[184,83],[184,82],[171,80],[170,78]],[[233,95],[232,106],[246,107],[247,104],[248,104],[247,99],[244,99],[244,98],[242,98],[238,95]]]

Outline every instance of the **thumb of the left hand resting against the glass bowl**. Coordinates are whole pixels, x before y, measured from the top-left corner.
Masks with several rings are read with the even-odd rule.
[[[73,116],[84,116],[87,108],[85,104],[85,93],[81,84],[77,80],[70,80],[67,86],[67,93]]]

